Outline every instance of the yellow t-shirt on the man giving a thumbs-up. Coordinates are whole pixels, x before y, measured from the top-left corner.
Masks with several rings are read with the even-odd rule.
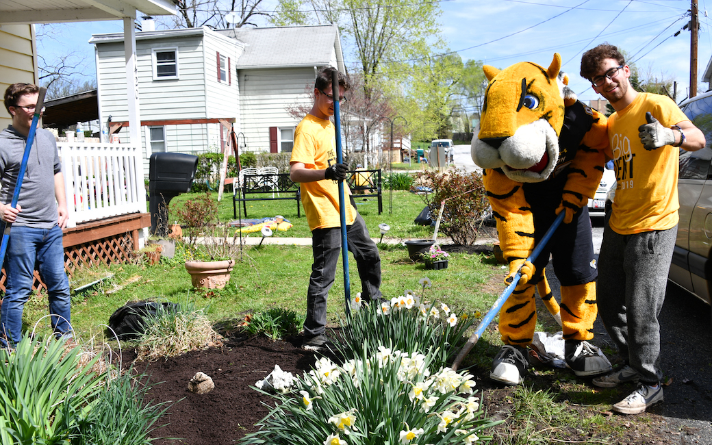
[[[666,230],[678,220],[677,174],[679,148],[666,145],[645,150],[638,127],[651,112],[663,127],[689,120],[666,96],[638,93],[624,110],[608,119],[608,153],[614,159],[617,187],[611,229],[622,235]]]

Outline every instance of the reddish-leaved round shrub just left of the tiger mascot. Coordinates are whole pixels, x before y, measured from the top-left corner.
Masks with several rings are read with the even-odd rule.
[[[445,201],[439,231],[464,246],[474,244],[490,208],[481,174],[427,170],[416,174],[416,183],[428,190],[420,196],[434,219]]]

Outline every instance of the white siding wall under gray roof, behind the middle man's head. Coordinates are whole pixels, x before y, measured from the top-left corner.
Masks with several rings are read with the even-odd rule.
[[[238,70],[241,129],[247,151],[269,152],[269,127],[296,127],[302,117],[292,117],[289,106],[310,107],[314,68]],[[242,140],[239,141],[242,144]]]

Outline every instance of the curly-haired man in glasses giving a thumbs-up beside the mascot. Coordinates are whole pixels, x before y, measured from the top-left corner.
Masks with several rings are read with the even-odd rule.
[[[634,90],[630,68],[615,46],[586,51],[581,76],[615,110],[608,118],[607,155],[617,187],[598,259],[597,300],[624,366],[593,384],[639,382],[613,405],[616,412],[637,414],[663,400],[658,314],[677,235],[679,148],[700,150],[705,137],[670,98]]]

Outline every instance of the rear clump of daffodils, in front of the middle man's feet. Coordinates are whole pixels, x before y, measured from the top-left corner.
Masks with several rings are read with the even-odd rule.
[[[431,286],[427,277],[420,282],[423,289]],[[380,304],[365,305],[357,295],[351,314],[340,322],[337,347],[350,358],[372,354],[382,345],[406,352],[432,350],[436,364],[444,366],[464,345],[474,321],[473,316],[454,313],[445,303],[427,303],[409,290]],[[367,345],[370,350],[365,350]]]

